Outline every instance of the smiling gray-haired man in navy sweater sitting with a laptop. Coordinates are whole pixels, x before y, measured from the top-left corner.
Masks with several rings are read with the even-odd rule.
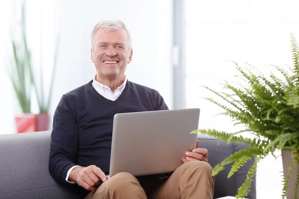
[[[92,30],[91,44],[96,75],[63,95],[54,114],[51,176],[86,199],[212,199],[215,179],[207,163],[208,151],[198,148],[198,141],[171,174],[136,178],[119,173],[106,178],[114,115],[168,107],[157,91],[127,79],[133,50],[122,21],[100,21]]]

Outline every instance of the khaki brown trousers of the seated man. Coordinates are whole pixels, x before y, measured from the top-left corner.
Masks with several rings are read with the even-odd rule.
[[[206,162],[182,164],[170,177],[137,180],[119,173],[85,199],[213,199],[215,177]]]

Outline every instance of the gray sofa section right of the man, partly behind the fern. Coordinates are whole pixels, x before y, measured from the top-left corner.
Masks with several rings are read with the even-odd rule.
[[[213,168],[229,155],[248,147],[245,143],[227,144],[217,138],[203,134],[198,134],[197,139],[199,141],[199,148],[206,148],[208,150],[208,162]],[[238,189],[245,182],[248,170],[252,164],[254,164],[254,159],[248,161],[230,178],[227,178],[227,176],[231,169],[231,164],[226,165],[225,169],[215,176],[214,198],[236,196]],[[254,176],[251,185],[250,193],[246,198],[256,199],[256,176]]]

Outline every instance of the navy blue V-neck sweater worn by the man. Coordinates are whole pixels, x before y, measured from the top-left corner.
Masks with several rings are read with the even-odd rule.
[[[53,118],[49,172],[62,185],[75,165],[96,165],[109,173],[113,118],[116,113],[168,109],[159,93],[127,81],[121,96],[108,100],[92,81],[62,96]]]

